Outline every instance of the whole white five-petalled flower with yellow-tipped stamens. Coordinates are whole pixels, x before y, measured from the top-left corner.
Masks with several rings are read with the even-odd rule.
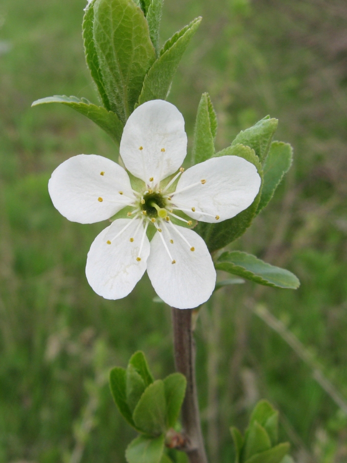
[[[69,220],[98,222],[126,208],[126,218],[105,228],[88,253],[86,275],[97,294],[122,298],[147,269],[157,294],[173,307],[197,307],[211,295],[216,272],[208,248],[179,211],[210,223],[230,219],[252,204],[261,181],[255,166],[238,156],[184,171],[186,145],[178,109],[148,101],[129,117],[120,143],[126,169],[142,180],[136,187],[125,169],[94,154],[74,156],[53,172],[49,194]],[[148,226],[157,229],[151,242]]]

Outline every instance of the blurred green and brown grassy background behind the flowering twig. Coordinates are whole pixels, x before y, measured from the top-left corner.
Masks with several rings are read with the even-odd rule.
[[[173,371],[170,310],[145,277],[106,301],[84,267],[104,224],[71,223],[47,180],[79,153],[115,159],[98,127],[37,98],[96,102],[85,66],[85,0],[0,4],[0,462],[124,462],[134,433],[113,404],[111,366],[145,351],[156,378]],[[258,303],[305,346],[347,401],[347,3],[345,0],[166,0],[162,40],[202,15],[170,101],[188,135],[201,94],[218,147],[267,114],[295,162],[267,209],[233,244],[294,271],[301,288],[251,283],[216,293],[197,324],[198,382],[211,463],[231,462],[229,426],[260,397],[280,411],[298,463],[347,462],[347,416]],[[221,278],[223,275],[221,275]],[[264,321],[265,320],[265,321]],[[317,374],[315,373],[315,377]]]

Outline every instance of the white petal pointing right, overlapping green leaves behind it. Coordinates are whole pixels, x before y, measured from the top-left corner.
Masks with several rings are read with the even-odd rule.
[[[247,209],[258,194],[261,179],[252,163],[238,156],[221,156],[183,172],[176,191],[193,184],[196,185],[173,195],[172,203],[182,206],[193,219],[216,223]],[[218,216],[219,219],[215,219]]]

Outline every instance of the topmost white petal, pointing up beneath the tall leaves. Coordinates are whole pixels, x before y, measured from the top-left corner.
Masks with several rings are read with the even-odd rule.
[[[119,152],[133,175],[147,184],[153,177],[156,185],[181,167],[186,148],[182,114],[173,104],[158,99],[141,104],[131,114]]]

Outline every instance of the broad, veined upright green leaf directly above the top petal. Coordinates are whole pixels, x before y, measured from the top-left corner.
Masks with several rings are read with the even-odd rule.
[[[133,0],[96,0],[93,32],[111,109],[125,123],[156,59],[147,21]]]

